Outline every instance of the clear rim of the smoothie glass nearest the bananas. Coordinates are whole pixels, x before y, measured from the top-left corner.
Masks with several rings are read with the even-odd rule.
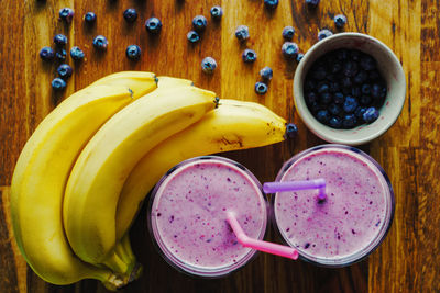
[[[241,268],[243,268],[245,264],[251,262],[256,258],[258,255],[258,251],[255,249],[249,249],[249,251],[240,258],[237,262],[233,262],[229,266],[220,266],[216,268],[204,268],[204,267],[197,267],[197,266],[191,266],[189,263],[186,263],[185,261],[182,261],[178,259],[173,252],[167,249],[166,245],[162,240],[162,237],[158,233],[157,229],[157,224],[155,221],[155,217],[152,216],[152,207],[156,199],[156,194],[161,189],[161,185],[166,181],[166,179],[174,173],[176,170],[180,169],[182,167],[185,167],[187,165],[190,165],[195,161],[198,160],[212,160],[212,161],[222,161],[228,165],[230,165],[232,168],[238,168],[241,171],[244,171],[246,176],[249,177],[250,181],[254,184],[255,190],[258,191],[260,198],[263,204],[262,210],[264,211],[263,215],[263,225],[258,235],[258,239],[264,239],[267,230],[267,221],[268,221],[268,210],[270,210],[270,204],[266,194],[263,192],[263,185],[256,179],[256,177],[243,165],[241,165],[238,161],[234,161],[229,158],[220,157],[220,156],[198,156],[194,158],[186,159],[176,166],[172,167],[162,178],[161,180],[156,183],[154,187],[153,191],[151,192],[150,199],[148,199],[148,206],[147,206],[147,228],[151,235],[151,239],[158,251],[158,253],[162,256],[162,258],[173,268],[175,268],[177,271],[186,273],[191,277],[198,277],[198,278],[222,278],[226,277]]]

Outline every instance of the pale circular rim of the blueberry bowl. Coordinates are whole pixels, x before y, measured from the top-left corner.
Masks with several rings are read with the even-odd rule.
[[[369,134],[361,138],[352,138],[352,139],[345,138],[345,137],[340,137],[338,135],[338,133],[334,132],[336,129],[320,123],[319,121],[317,121],[315,119],[315,116],[308,110],[308,106],[304,100],[304,94],[301,92],[302,87],[300,86],[300,78],[304,75],[305,66],[308,64],[310,56],[314,55],[316,49],[319,47],[326,46],[328,43],[333,43],[336,38],[346,38],[346,37],[369,40],[373,43],[376,43],[382,49],[384,49],[388,53],[391,61],[394,65],[397,65],[397,68],[396,68],[397,76],[403,77],[402,78],[403,83],[400,86],[402,87],[402,89],[400,89],[402,97],[397,97],[398,99],[397,99],[396,105],[395,105],[396,111],[393,111],[394,113],[387,117],[387,122],[385,123],[385,125],[381,128],[377,128],[377,131],[372,134]],[[398,116],[400,115],[402,110],[404,108],[404,104],[406,101],[406,90],[407,90],[405,71],[403,69],[403,66],[402,66],[399,59],[394,54],[394,52],[387,45],[385,45],[383,42],[381,42],[380,40],[377,40],[371,35],[363,34],[363,33],[356,33],[356,32],[337,33],[337,34],[328,36],[328,37],[317,42],[315,45],[312,45],[307,50],[307,53],[302,57],[301,61],[298,64],[298,67],[296,68],[293,87],[294,87],[294,101],[295,101],[296,112],[298,113],[298,115],[300,116],[302,122],[306,124],[306,126],[315,135],[317,135],[318,137],[320,137],[321,139],[326,140],[326,142],[333,143],[333,144],[345,144],[345,145],[352,145],[352,146],[366,144],[366,143],[380,137],[385,132],[387,132],[394,125],[394,123],[396,123],[396,121],[397,121]],[[343,131],[343,129],[338,129],[338,131]],[[350,129],[350,131],[352,131],[352,129]]]

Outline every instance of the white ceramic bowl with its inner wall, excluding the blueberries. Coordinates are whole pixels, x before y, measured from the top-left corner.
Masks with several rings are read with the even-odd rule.
[[[380,109],[378,119],[372,124],[352,129],[334,129],[320,123],[307,108],[302,86],[308,70],[323,54],[338,48],[356,48],[373,56],[387,82],[384,105]],[[405,103],[405,74],[396,55],[381,41],[360,33],[339,33],[319,41],[306,53],[295,72],[294,95],[299,116],[317,136],[329,143],[361,145],[381,136],[396,122]]]

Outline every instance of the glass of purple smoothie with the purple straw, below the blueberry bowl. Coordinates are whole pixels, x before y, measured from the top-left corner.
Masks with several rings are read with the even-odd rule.
[[[318,190],[277,192],[274,224],[299,257],[323,267],[344,267],[367,257],[385,238],[394,215],[394,193],[382,167],[342,145],[307,149],[285,162],[276,181],[323,178]]]

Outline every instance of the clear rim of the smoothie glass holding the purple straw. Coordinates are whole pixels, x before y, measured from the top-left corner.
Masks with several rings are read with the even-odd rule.
[[[320,257],[314,257],[308,253],[305,253],[301,249],[298,249],[299,253],[299,259],[305,260],[307,262],[314,263],[319,267],[329,267],[329,268],[340,268],[340,267],[346,267],[351,266],[353,263],[356,263],[359,261],[362,261],[366,257],[369,257],[373,251],[375,251],[378,246],[382,244],[382,241],[385,239],[386,235],[388,234],[393,219],[394,219],[394,213],[395,213],[395,198],[394,198],[394,191],[393,187],[391,183],[391,180],[388,176],[386,174],[385,170],[382,168],[382,166],[369,154],[364,153],[363,150],[352,147],[352,146],[345,146],[345,145],[340,145],[340,144],[324,144],[324,145],[319,145],[315,146],[311,148],[308,148],[306,150],[302,150],[295,156],[293,156],[290,159],[288,159],[286,162],[283,164],[283,167],[278,171],[275,181],[280,181],[283,176],[286,173],[286,171],[300,158],[304,156],[320,150],[320,149],[331,149],[331,148],[337,148],[337,149],[344,149],[346,151],[354,153],[356,155],[360,155],[367,161],[372,164],[371,167],[376,168],[376,173],[377,176],[382,174],[383,181],[384,181],[384,189],[387,189],[388,192],[385,194],[385,203],[386,203],[386,210],[385,210],[385,221],[381,225],[381,229],[377,232],[376,236],[371,240],[371,243],[365,246],[363,249],[352,253],[348,255],[341,258],[320,258]],[[382,181],[382,180],[381,180]],[[275,228],[276,233],[278,236],[283,239],[283,241],[289,246],[289,241],[284,237],[283,232],[279,229],[276,221],[276,212],[275,212],[275,199],[277,196],[277,193],[274,193],[273,196],[271,196],[271,219],[273,223],[273,227]]]

